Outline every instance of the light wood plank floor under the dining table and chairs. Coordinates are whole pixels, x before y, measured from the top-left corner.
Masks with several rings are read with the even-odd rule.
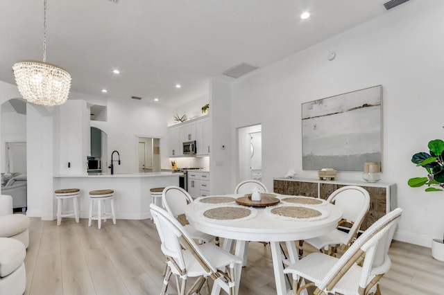
[[[394,241],[389,254],[382,294],[443,294],[444,262],[434,260],[430,249]],[[57,226],[31,218],[25,265],[25,294],[160,294],[164,258],[150,220],[108,221],[99,230],[86,219],[63,219]],[[177,294],[174,285],[169,294]],[[270,247],[250,243],[239,294],[275,294]]]

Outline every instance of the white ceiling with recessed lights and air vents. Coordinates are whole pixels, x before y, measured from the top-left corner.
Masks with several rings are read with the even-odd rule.
[[[167,105],[241,62],[262,68],[390,11],[383,0],[47,1],[46,62],[71,73],[71,91]],[[15,83],[12,64],[42,60],[43,0],[0,11],[0,80]]]

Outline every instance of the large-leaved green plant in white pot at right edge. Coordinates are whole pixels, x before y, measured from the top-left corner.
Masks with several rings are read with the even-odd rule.
[[[444,190],[444,141],[435,139],[429,141],[429,153],[418,152],[413,154],[411,161],[416,166],[422,166],[427,170],[427,177],[413,177],[408,184],[412,188],[427,186],[426,192],[438,192]],[[444,261],[444,240],[432,240],[432,257]]]

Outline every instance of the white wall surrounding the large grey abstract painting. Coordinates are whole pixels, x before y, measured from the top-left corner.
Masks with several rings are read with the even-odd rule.
[[[409,1],[236,80],[232,107],[223,113],[232,125],[214,120],[213,134],[262,123],[266,186],[272,188],[273,177],[283,177],[290,168],[298,177],[316,178],[316,171],[302,170],[301,103],[382,84],[382,181],[397,184],[398,206],[404,209],[395,238],[430,247],[432,238],[443,236],[444,193],[424,193],[407,186],[407,180],[425,176],[411,156],[427,150],[429,140],[444,137],[443,11],[444,1]],[[330,51],[336,52],[332,61],[327,60]],[[219,168],[212,163],[214,175]],[[233,154],[227,181],[218,181],[225,182],[225,190],[234,186],[228,175],[236,172],[235,163]],[[362,180],[361,172],[339,172],[338,179]]]

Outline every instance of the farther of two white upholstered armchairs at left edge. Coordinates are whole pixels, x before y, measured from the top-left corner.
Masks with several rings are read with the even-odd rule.
[[[0,238],[14,238],[28,248],[29,218],[24,214],[12,214],[12,197],[0,195]]]

